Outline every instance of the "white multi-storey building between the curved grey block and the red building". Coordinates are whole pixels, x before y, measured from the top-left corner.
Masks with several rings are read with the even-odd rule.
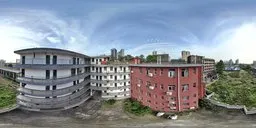
[[[128,64],[109,62],[110,56],[91,57],[91,89],[103,99],[130,98]]]

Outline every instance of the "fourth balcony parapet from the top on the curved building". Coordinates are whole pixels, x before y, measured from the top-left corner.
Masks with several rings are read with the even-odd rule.
[[[52,106],[52,105],[63,104],[65,102],[70,102],[73,99],[76,99],[76,98],[82,96],[83,94],[90,94],[89,86],[81,89],[80,91],[78,91],[74,94],[57,97],[57,98],[35,98],[35,97],[29,97],[29,96],[25,96],[25,95],[18,95],[17,100],[32,103],[32,104],[41,104],[41,105],[46,105],[46,106]],[[63,107],[65,107],[65,106],[63,106]]]

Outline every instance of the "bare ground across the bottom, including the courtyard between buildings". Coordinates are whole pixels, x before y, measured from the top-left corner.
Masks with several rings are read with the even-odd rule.
[[[173,127],[256,127],[256,116],[242,112],[198,110],[167,120],[154,116],[135,117],[122,110],[120,102],[103,106],[98,100],[90,100],[80,107],[62,112],[28,112],[14,110],[0,115],[0,128],[173,128]],[[93,109],[91,109],[93,108]]]

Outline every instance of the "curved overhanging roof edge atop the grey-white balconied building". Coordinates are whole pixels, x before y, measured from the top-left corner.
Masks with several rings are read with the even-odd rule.
[[[27,53],[59,53],[59,54],[67,54],[67,55],[74,55],[74,56],[80,56],[80,57],[86,57],[90,58],[87,55],[78,53],[78,52],[73,52],[65,49],[58,49],[58,48],[27,48],[27,49],[21,49],[21,50],[16,50],[14,53],[16,54],[27,54]]]

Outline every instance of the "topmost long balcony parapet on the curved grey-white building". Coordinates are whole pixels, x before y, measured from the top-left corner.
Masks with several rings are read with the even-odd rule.
[[[42,69],[42,70],[54,70],[54,69],[71,69],[71,68],[84,68],[90,67],[89,64],[17,64],[16,68],[27,68],[27,69]]]

